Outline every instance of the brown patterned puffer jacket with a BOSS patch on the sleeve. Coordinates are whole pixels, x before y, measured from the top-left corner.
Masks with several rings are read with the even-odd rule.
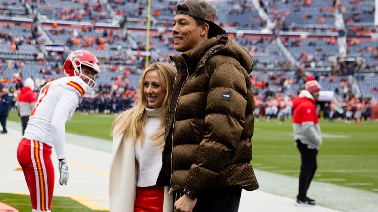
[[[257,189],[252,57],[230,38],[214,37],[171,60],[178,75],[157,185],[189,197],[229,186]]]

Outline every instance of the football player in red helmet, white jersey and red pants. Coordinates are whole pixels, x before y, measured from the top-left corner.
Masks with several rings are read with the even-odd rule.
[[[65,123],[101,72],[96,56],[86,50],[72,52],[64,62],[66,77],[47,83],[38,96],[17,150],[33,206],[32,212],[50,212],[54,191],[51,149],[59,160],[59,184],[67,185]]]

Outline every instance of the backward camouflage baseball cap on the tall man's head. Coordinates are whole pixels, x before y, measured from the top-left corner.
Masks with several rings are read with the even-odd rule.
[[[188,11],[180,9],[180,5],[188,8]],[[183,14],[203,19],[212,25],[212,29],[216,30],[216,34],[226,33],[225,30],[215,23],[217,10],[205,0],[185,0],[180,5],[177,7],[176,15]]]

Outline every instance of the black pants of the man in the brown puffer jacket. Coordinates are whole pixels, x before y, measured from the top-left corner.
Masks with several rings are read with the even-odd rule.
[[[182,196],[180,194],[182,193],[173,193],[173,206],[174,202]],[[240,197],[241,188],[236,186],[205,192],[198,198],[193,212],[237,212]]]

